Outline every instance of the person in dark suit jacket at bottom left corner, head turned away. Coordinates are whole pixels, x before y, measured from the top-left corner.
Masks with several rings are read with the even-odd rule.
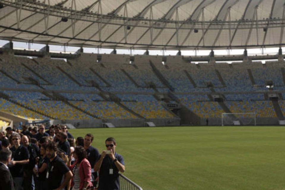
[[[0,151],[0,190],[14,190],[13,177],[7,167],[11,162],[12,152],[8,149]]]

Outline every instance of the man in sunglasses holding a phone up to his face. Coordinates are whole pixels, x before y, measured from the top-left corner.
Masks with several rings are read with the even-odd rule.
[[[103,151],[94,165],[94,171],[99,172],[98,190],[119,190],[119,171],[125,171],[123,156],[116,153],[116,140],[109,137],[105,140],[106,151]]]

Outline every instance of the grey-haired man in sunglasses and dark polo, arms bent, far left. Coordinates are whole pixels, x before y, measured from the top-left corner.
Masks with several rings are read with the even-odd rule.
[[[11,140],[13,144],[10,149],[12,151],[12,161],[8,164],[8,167],[15,182],[15,190],[21,190],[24,180],[24,165],[29,163],[29,151],[27,147],[20,144],[20,134],[12,133]]]

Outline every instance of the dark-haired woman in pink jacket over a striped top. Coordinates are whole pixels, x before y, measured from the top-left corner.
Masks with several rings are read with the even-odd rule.
[[[87,160],[87,152],[82,146],[75,147],[73,156],[75,162],[69,167],[73,173],[72,190],[92,189],[91,166]],[[69,159],[71,160],[71,159]]]

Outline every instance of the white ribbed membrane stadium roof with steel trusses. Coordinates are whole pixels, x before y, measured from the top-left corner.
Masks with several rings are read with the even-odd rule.
[[[0,39],[79,47],[285,45],[284,0],[0,0]]]

